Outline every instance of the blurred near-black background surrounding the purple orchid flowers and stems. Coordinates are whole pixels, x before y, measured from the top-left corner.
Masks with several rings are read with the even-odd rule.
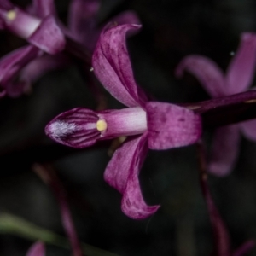
[[[26,6],[28,1],[15,1]],[[55,1],[66,22],[68,1]],[[104,0],[104,24],[131,9],[143,28],[128,39],[138,84],[160,102],[197,102],[209,98],[198,81],[174,76],[189,54],[212,58],[224,70],[241,32],[256,31],[253,0]],[[1,56],[26,44],[0,34]],[[108,108],[122,108],[105,92]],[[45,74],[30,95],[0,101],[0,211],[64,236],[59,208],[49,188],[32,172],[34,162],[55,166],[67,189],[80,241],[122,256],[205,256],[212,252],[212,230],[201,195],[195,146],[150,151],[140,181],[148,204],[160,204],[151,218],[137,221],[120,210],[121,195],[103,181],[110,142],[73,150],[49,140],[44,126],[70,108],[96,108],[96,101],[75,65]],[[212,131],[204,138],[211,141]],[[121,172],[121,171],[120,171]],[[242,138],[241,154],[228,177],[210,177],[212,195],[230,231],[232,248],[256,238],[256,144]],[[25,255],[32,241],[0,234],[0,255]],[[47,246],[47,255],[69,255]],[[248,255],[256,255],[254,249]]]

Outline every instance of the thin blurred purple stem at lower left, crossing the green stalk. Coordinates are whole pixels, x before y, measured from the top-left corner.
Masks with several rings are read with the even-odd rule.
[[[56,176],[55,171],[51,166],[34,164],[32,166],[32,169],[36,173],[38,173],[38,176],[42,178],[44,183],[47,183],[49,185],[49,187],[53,190],[55,194],[61,210],[62,225],[64,227],[64,230],[66,231],[67,237],[73,249],[73,256],[82,256],[83,254],[79,244],[79,239],[75,231],[71,212],[67,204],[66,191],[63,188],[61,181]]]

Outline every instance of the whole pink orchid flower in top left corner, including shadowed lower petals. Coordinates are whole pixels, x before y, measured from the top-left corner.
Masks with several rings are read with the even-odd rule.
[[[30,10],[33,15],[8,0],[0,0],[0,28],[15,32],[30,43],[0,60],[0,97],[20,96],[28,90],[32,79],[55,64],[45,61],[44,52],[54,55],[65,46],[63,33],[55,23],[52,0],[34,0]]]

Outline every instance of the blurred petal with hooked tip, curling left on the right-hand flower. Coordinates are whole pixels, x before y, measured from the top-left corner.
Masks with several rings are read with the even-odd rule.
[[[178,78],[183,76],[183,72],[192,73],[201,82],[202,87],[207,90],[212,97],[227,95],[224,74],[216,63],[201,55],[189,55],[185,57],[177,66],[175,74]]]

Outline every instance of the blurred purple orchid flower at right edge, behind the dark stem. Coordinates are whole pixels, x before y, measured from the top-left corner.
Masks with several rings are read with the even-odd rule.
[[[201,55],[189,55],[177,66],[177,77],[185,70],[195,75],[212,97],[229,96],[244,90],[253,82],[256,64],[256,34],[241,34],[241,44],[226,75],[215,62]],[[214,134],[208,172],[224,176],[231,172],[239,154],[240,131],[256,141],[256,120],[220,127]]]

